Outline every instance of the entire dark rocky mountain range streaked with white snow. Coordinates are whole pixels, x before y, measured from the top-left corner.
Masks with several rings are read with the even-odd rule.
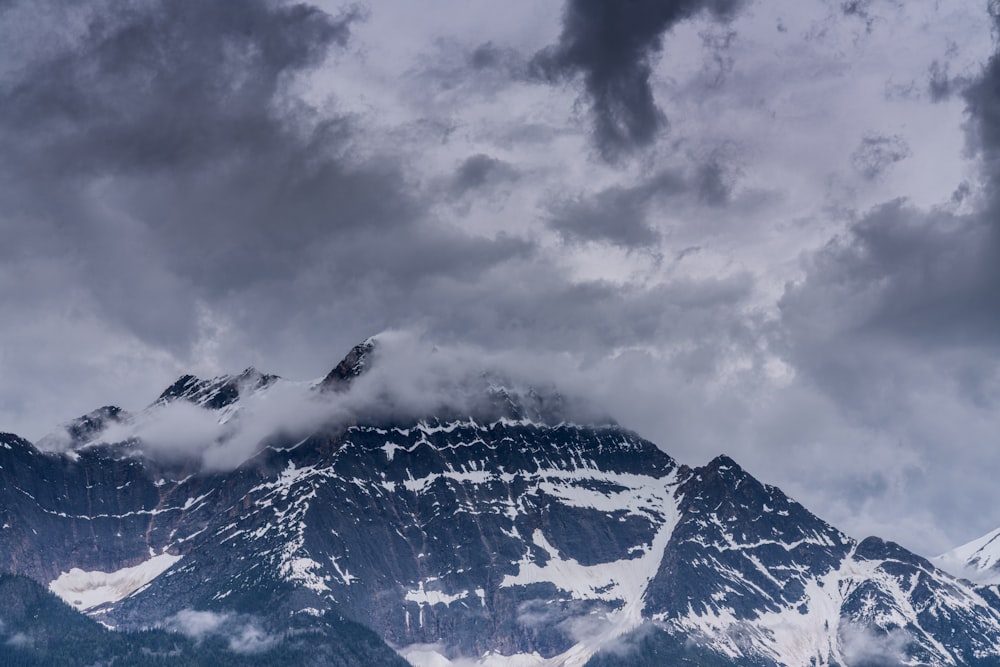
[[[302,400],[377,363],[366,341]],[[185,376],[149,410],[239,420],[282,382]],[[225,637],[236,664],[304,635],[357,648],[284,664],[1000,664],[988,587],[857,542],[725,456],[679,465],[559,421],[557,396],[470,386],[473,416],[261,434],[232,470],[104,442],[134,418],[117,408],[59,452],[2,435],[0,563],[120,630]]]

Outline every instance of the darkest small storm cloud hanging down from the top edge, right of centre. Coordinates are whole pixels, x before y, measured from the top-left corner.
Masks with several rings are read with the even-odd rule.
[[[538,53],[538,76],[559,81],[582,74],[594,138],[606,159],[654,140],[666,123],[650,86],[663,34],[701,11],[732,16],[741,0],[568,0],[559,43]]]

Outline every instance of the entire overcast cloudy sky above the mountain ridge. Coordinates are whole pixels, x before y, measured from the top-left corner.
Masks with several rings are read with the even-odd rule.
[[[0,0],[0,430],[404,332],[943,552],[1000,526],[998,14]]]

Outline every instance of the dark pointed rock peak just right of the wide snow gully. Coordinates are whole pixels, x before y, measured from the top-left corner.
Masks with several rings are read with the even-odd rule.
[[[724,456],[688,471],[678,494],[682,518],[646,596],[647,613],[661,619],[720,606],[747,621],[777,612],[801,600],[805,581],[836,568],[852,546]]]

